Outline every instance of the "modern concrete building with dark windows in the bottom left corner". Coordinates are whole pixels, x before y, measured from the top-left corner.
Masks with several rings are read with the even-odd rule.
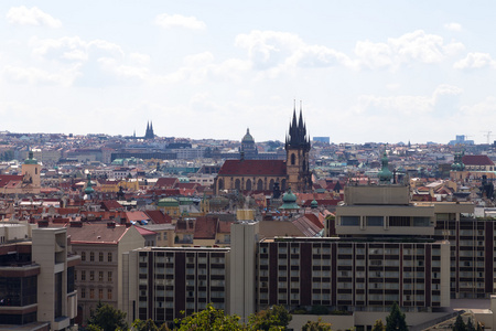
[[[74,269],[65,228],[0,245],[0,330],[77,330]]]

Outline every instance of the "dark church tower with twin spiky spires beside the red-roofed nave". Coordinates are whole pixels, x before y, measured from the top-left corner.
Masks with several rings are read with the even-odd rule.
[[[309,168],[310,138],[300,105],[300,119],[296,121],[296,109],[293,109],[293,120],[289,135],[285,137],[288,184],[293,192],[310,192],[312,190],[312,174]]]

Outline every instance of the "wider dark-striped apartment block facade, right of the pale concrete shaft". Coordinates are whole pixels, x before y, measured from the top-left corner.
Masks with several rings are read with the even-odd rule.
[[[258,249],[257,310],[325,306],[330,310],[409,312],[450,306],[448,242],[263,239]]]

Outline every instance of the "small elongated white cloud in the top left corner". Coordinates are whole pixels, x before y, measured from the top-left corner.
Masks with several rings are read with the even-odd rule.
[[[54,29],[62,26],[60,20],[45,13],[37,7],[13,7],[7,12],[7,20],[11,24],[20,25],[48,26]]]

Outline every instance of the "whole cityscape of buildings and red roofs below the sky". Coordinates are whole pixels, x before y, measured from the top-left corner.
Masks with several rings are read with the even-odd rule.
[[[99,302],[129,323],[282,305],[293,330],[370,330],[397,302],[423,330],[467,299],[492,329],[496,145],[462,137],[336,145],[311,139],[303,109],[283,142],[163,138],[152,121],[140,137],[3,131],[0,330],[77,330]]]

